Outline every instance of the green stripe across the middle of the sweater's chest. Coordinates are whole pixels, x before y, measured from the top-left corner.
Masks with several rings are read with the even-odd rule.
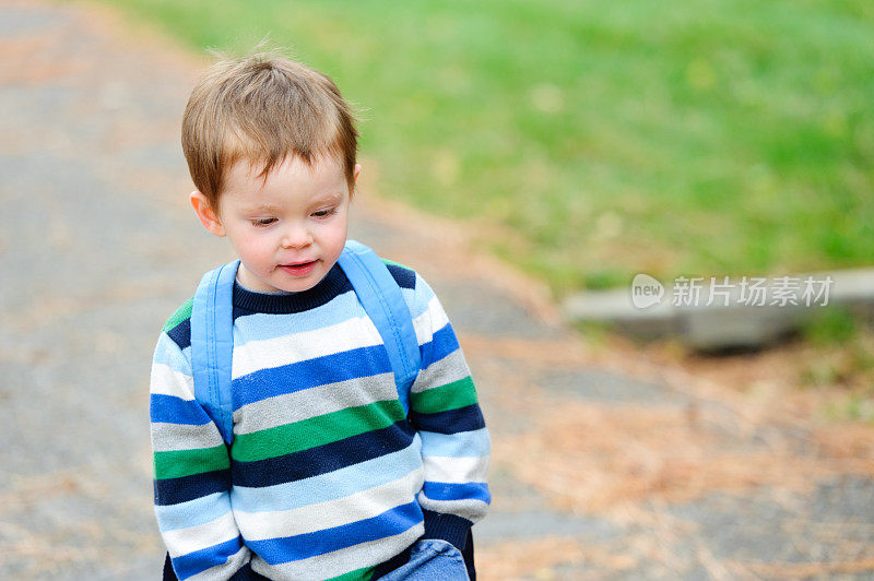
[[[231,454],[240,462],[276,458],[331,443],[403,419],[398,400],[374,402],[251,434],[238,434]]]

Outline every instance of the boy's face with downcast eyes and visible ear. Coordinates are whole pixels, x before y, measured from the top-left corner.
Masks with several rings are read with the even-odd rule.
[[[361,166],[355,166],[355,178]],[[237,162],[225,178],[218,215],[205,198],[191,203],[203,225],[227,236],[240,259],[239,280],[253,290],[307,290],[340,258],[346,242],[350,194],[345,174],[333,158],[307,165],[286,157],[268,175],[248,161]],[[205,208],[204,208],[205,204]]]

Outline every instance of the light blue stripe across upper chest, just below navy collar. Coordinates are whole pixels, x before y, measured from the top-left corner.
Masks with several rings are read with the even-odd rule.
[[[364,308],[358,297],[350,289],[338,295],[329,303],[304,312],[272,315],[256,312],[238,317],[234,321],[234,346],[245,345],[248,341],[264,341],[294,333],[305,333],[342,323],[355,317],[364,317]],[[239,333],[239,334],[237,334]]]

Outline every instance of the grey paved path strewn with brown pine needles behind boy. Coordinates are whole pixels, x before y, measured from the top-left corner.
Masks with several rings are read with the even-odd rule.
[[[161,566],[150,356],[228,254],[185,201],[199,63],[125,31],[80,4],[0,1],[2,579]],[[492,429],[483,579],[874,577],[870,427],[594,349],[463,230],[374,189],[353,235],[435,286]]]

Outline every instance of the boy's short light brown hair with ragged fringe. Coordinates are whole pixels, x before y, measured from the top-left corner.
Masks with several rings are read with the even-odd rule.
[[[276,52],[223,59],[191,91],[182,116],[182,151],[194,187],[218,211],[225,174],[239,159],[263,165],[285,157],[307,164],[332,156],[350,193],[358,132],[352,108],[327,75]]]

